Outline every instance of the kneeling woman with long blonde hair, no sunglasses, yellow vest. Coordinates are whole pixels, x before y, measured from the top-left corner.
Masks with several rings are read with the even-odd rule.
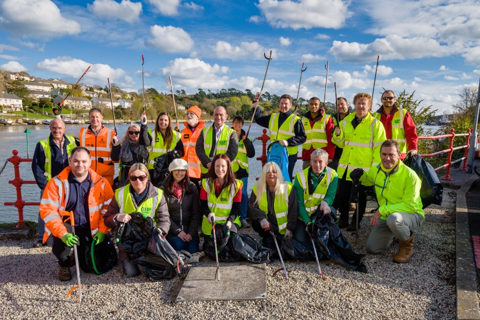
[[[253,230],[262,238],[270,236],[266,231],[268,227],[284,236],[291,236],[295,230],[298,201],[292,189],[293,185],[284,180],[278,164],[268,162],[263,166],[248,202]]]

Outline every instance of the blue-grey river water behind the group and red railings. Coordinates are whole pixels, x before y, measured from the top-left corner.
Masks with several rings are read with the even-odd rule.
[[[207,123],[210,125],[210,123]],[[228,123],[231,126],[231,123]],[[67,124],[67,129],[77,128],[80,125]],[[113,129],[113,125],[106,125]],[[149,127],[153,127],[153,124],[148,124]],[[125,133],[128,125],[118,124],[118,135],[122,136]],[[33,156],[35,150],[35,144],[41,139],[44,139],[50,134],[50,130],[47,125],[12,125],[12,126],[0,126],[0,165],[3,166],[5,160],[12,156],[11,151],[13,149],[18,150],[18,155],[26,157],[26,134],[23,133],[28,128],[30,134],[28,134],[28,146],[29,156]],[[180,129],[183,129],[184,125],[180,124]],[[248,125],[245,124],[243,129],[246,131]],[[251,125],[249,136],[253,140],[254,137],[262,134],[263,127],[260,127],[256,123]],[[261,141],[256,140],[253,142],[255,147],[255,157],[249,159],[249,178],[248,178],[248,193],[251,191],[251,187],[255,183],[255,178],[259,176],[261,171],[261,162],[256,160],[257,156],[261,155]],[[301,154],[301,150],[300,150]],[[0,166],[0,168],[1,168]],[[115,170],[116,171],[116,170]],[[301,171],[301,160],[298,160],[295,165],[294,172]],[[31,162],[20,163],[20,177],[23,180],[33,180],[33,173],[31,172]],[[18,211],[14,206],[5,206],[3,202],[14,202],[16,200],[15,187],[8,183],[9,180],[14,178],[13,165],[7,163],[3,173],[0,175],[0,188],[3,190],[0,192],[0,222],[16,222],[18,221]],[[24,201],[39,201],[40,189],[36,184],[23,184],[21,187],[22,198]],[[23,208],[23,218],[25,220],[36,221],[38,216],[38,206],[25,206]]]

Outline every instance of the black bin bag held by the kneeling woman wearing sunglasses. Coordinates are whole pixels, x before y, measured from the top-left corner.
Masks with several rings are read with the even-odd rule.
[[[181,271],[174,253],[165,240],[155,230],[155,223],[150,217],[143,218],[141,213],[130,214],[131,219],[125,223],[117,246],[127,254],[129,262],[136,263],[141,273],[152,281],[168,280]],[[177,252],[182,258],[183,254]]]

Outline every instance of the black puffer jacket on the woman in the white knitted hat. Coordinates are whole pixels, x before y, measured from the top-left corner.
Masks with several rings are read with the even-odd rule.
[[[201,222],[200,196],[193,182],[189,182],[193,190],[190,194],[183,191],[181,203],[173,194],[163,191],[168,213],[170,215],[170,229],[166,235],[167,239],[176,236],[180,231],[190,234],[193,240],[199,241],[198,226]],[[161,187],[163,188],[163,186]]]

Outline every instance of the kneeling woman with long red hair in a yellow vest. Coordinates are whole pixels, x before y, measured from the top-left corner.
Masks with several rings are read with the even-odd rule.
[[[211,235],[212,223],[226,223],[232,232],[240,228],[241,180],[235,179],[226,154],[215,155],[211,163],[200,189],[201,230],[205,237]]]

